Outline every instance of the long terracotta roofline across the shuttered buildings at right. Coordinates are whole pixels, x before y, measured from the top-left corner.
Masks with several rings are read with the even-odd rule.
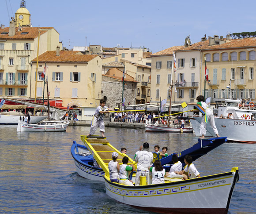
[[[154,57],[159,55],[170,55],[170,54],[173,54],[173,51],[193,51],[193,50],[207,51],[207,50],[219,50],[219,49],[230,49],[230,48],[256,47],[256,37],[236,39],[236,40],[226,40],[226,39],[224,40],[226,41],[225,43],[219,44],[219,45],[212,45],[212,46],[209,46],[209,40],[200,41],[188,47],[185,47],[184,45],[173,46],[163,51],[154,53],[151,56]]]

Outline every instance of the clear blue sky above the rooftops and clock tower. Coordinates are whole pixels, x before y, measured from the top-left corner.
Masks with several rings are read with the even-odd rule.
[[[20,0],[0,0],[9,26]],[[256,31],[256,0],[26,0],[33,27],[54,27],[64,47],[147,47],[152,53],[206,36]]]

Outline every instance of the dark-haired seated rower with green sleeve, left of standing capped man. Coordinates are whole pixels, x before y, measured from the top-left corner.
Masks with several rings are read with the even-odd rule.
[[[128,185],[128,186],[133,186],[132,181],[130,181],[128,179],[129,177],[129,171],[135,171],[135,167],[133,166],[133,164],[131,164],[130,166],[127,165],[129,161],[129,158],[127,156],[123,157],[123,165],[120,166],[120,170],[119,170],[119,183],[120,184],[124,184],[124,185]]]

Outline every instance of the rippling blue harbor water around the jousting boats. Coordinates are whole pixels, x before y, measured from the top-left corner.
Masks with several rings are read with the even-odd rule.
[[[0,213],[2,214],[136,214],[148,212],[118,203],[105,194],[105,184],[80,177],[70,154],[72,141],[90,127],[68,127],[66,132],[16,132],[0,126]],[[117,149],[133,157],[144,142],[181,152],[197,142],[192,133],[145,133],[145,129],[105,128]],[[99,134],[99,132],[97,132]],[[256,144],[225,143],[194,164],[201,176],[239,167],[229,214],[256,213]],[[154,203],[149,201],[150,203]],[[170,201],[171,203],[171,201]],[[184,198],[184,203],[185,198]]]

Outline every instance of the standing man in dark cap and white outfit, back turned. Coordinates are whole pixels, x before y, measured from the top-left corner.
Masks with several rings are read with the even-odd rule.
[[[135,177],[135,185],[139,185],[140,175],[145,175],[148,181],[148,167],[150,167],[153,161],[153,154],[149,152],[149,144],[146,142],[143,144],[142,151],[139,151],[135,157],[137,163],[137,172]]]

